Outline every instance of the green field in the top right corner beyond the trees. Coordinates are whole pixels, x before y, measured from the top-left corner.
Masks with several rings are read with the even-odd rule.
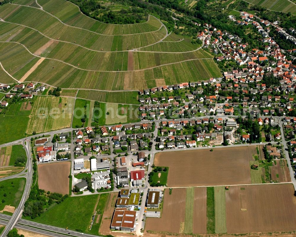
[[[276,12],[296,14],[296,3],[288,0],[245,0],[253,5],[261,6]]]

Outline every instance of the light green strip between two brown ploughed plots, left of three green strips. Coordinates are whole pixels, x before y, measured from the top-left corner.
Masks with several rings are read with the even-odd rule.
[[[185,227],[184,233],[192,234],[193,232],[193,203],[194,187],[186,188],[186,205],[185,205]]]

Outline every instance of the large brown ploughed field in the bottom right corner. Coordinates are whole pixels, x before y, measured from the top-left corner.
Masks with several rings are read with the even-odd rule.
[[[225,195],[228,233],[296,230],[292,184],[231,186]]]

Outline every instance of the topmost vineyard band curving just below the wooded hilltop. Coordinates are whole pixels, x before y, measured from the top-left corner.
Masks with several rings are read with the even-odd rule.
[[[40,7],[42,5],[41,8],[48,13],[51,12],[51,14],[53,14],[54,12],[54,16],[58,17],[59,20],[61,20],[63,23],[67,25],[70,25],[70,23],[71,23],[71,26],[77,25],[77,24],[83,24],[82,25],[83,29],[93,29],[92,31],[94,32],[97,32],[98,30],[100,32],[108,32],[108,33],[110,31],[111,31],[110,33],[140,31],[139,34],[141,34],[141,33],[153,32],[153,28],[157,29],[157,27],[162,24],[159,19],[155,18],[152,15],[148,15],[148,20],[144,23],[135,23],[135,24],[104,23],[104,22],[95,20],[87,15],[84,15],[76,4],[70,1],[65,1],[65,0],[44,1],[43,4],[41,3],[38,5]],[[84,26],[87,26],[87,28]],[[82,27],[77,27],[77,28],[82,28]],[[115,35],[115,34],[107,34],[107,35]],[[120,34],[120,35],[126,35],[126,34]]]

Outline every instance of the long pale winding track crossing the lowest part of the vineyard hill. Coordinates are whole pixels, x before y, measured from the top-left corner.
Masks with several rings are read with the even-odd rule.
[[[46,57],[40,57],[40,56],[37,56],[33,53],[31,53],[28,48],[19,43],[19,42],[13,42],[13,41],[10,41],[10,42],[6,42],[6,41],[0,41],[0,43],[15,43],[15,44],[20,44],[22,45],[31,55],[37,57],[37,58],[46,58]],[[149,52],[150,53],[150,52]],[[55,59],[55,58],[46,58],[46,59],[49,59],[49,60],[55,60],[55,61],[59,61],[61,63],[65,63],[69,66],[72,66],[73,68],[76,68],[76,69],[79,69],[79,70],[83,70],[83,71],[94,71],[94,72],[126,72],[126,71],[103,71],[103,70],[89,70],[89,69],[82,69],[82,68],[79,68],[77,66],[74,66],[70,63],[66,63],[62,60],[59,60],[59,59]],[[167,66],[167,65],[171,65],[171,64],[176,64],[176,63],[183,63],[183,62],[187,62],[187,61],[195,61],[195,60],[205,60],[205,59],[212,59],[212,58],[195,58],[195,59],[186,59],[186,60],[182,60],[182,61],[177,61],[177,62],[173,62],[173,63],[164,63],[164,64],[161,64],[161,65],[158,65],[158,66],[152,66],[152,67],[149,67],[149,68],[145,68],[145,69],[137,69],[137,70],[133,70],[133,71],[144,71],[144,70],[147,70],[147,69],[153,69],[153,68],[157,68],[157,67],[161,67],[161,66]]]

